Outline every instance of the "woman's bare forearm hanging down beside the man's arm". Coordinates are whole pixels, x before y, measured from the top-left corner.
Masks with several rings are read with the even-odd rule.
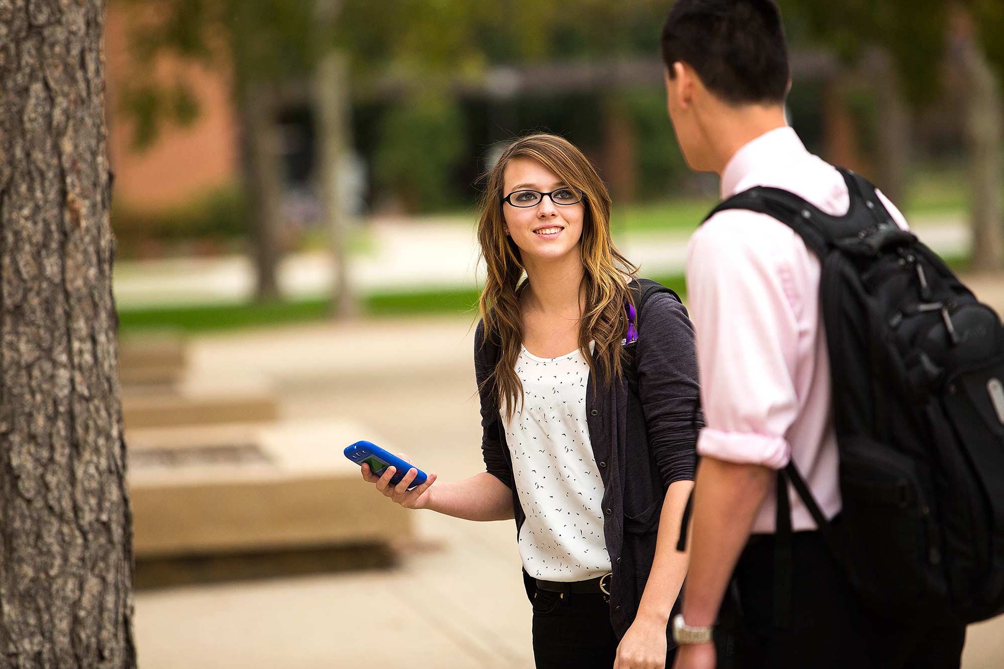
[[[661,622],[669,622],[673,605],[687,577],[687,552],[677,550],[677,540],[680,537],[680,523],[687,506],[687,497],[693,487],[693,481],[677,481],[666,491],[659,519],[656,558],[639,604],[640,618],[649,616]]]

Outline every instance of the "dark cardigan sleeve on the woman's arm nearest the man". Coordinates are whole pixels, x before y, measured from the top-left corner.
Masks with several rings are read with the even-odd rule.
[[[694,326],[684,305],[661,292],[646,302],[639,327],[639,396],[649,447],[664,484],[693,480],[703,425]]]

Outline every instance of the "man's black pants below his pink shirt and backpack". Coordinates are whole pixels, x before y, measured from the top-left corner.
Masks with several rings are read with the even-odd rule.
[[[966,627],[897,627],[858,602],[817,532],[792,536],[790,623],[774,622],[774,540],[743,550],[716,630],[719,669],[957,669]]]

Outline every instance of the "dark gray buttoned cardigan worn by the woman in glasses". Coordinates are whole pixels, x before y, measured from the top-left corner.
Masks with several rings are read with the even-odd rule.
[[[698,394],[694,326],[673,295],[653,294],[639,318],[635,344],[638,395],[626,378],[605,386],[586,384],[585,409],[592,452],[603,481],[603,534],[613,566],[610,622],[622,637],[635,620],[656,554],[659,518],[670,484],[693,480],[697,434],[703,426]],[[513,485],[499,402],[483,385],[500,356],[486,342],[484,322],[475,333],[474,368],[481,399],[481,451],[485,466],[512,490],[516,532],[525,515]],[[674,537],[676,540],[676,537]],[[524,572],[528,596],[533,580]]]

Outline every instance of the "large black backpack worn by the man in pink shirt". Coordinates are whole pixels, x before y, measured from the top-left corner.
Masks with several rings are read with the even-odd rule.
[[[870,183],[840,174],[850,196],[842,217],[766,187],[708,216],[767,214],[822,266],[843,509],[830,525],[789,463],[778,474],[778,565],[790,545],[790,481],[876,613],[985,620],[1004,611],[1004,329],[893,221]],[[790,590],[790,575],[776,581],[779,596]]]

